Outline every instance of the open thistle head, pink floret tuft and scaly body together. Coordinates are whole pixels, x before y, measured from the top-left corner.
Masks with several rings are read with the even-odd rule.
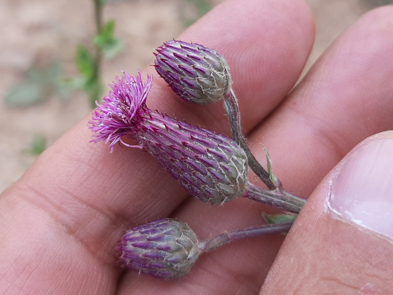
[[[127,135],[137,147],[149,151],[194,197],[221,204],[244,193],[248,183],[247,156],[230,138],[202,129],[145,105],[151,77],[143,86],[137,77],[124,73],[111,85],[109,96],[97,105],[89,127],[97,142],[110,142],[111,151]]]

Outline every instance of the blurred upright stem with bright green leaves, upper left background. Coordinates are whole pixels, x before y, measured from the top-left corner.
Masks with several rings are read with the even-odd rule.
[[[108,0],[94,0],[95,26],[97,33],[94,37],[95,52],[83,45],[79,45],[75,54],[75,61],[81,77],[74,79],[75,87],[82,89],[88,95],[89,105],[95,108],[95,101],[100,101],[103,91],[101,81],[101,63],[103,57],[113,58],[123,50],[123,44],[114,36],[115,21],[106,24],[102,22],[102,9]]]

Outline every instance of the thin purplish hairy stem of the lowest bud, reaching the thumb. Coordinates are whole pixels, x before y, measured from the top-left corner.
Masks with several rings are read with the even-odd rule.
[[[199,248],[202,252],[208,252],[223,245],[245,238],[253,238],[257,236],[263,236],[265,234],[286,233],[290,229],[293,222],[294,220],[291,220],[282,223],[264,224],[256,227],[248,227],[246,229],[225,232],[224,234],[215,236],[210,240],[201,242]]]

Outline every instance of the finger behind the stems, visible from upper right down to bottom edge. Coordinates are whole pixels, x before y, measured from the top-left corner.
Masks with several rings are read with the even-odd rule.
[[[273,172],[283,180],[284,187],[307,196],[323,177],[321,174],[352,146],[393,127],[393,106],[387,99],[393,85],[386,83],[393,78],[390,19],[391,8],[372,11],[360,19],[334,42],[277,112],[255,129],[249,142],[266,144]],[[369,101],[371,96],[373,101]],[[367,124],[364,118],[369,118]],[[356,127],[354,122],[358,121],[360,126]],[[258,144],[253,145],[253,150],[261,151],[259,159],[264,159]],[[202,205],[189,200],[176,216],[187,221],[202,238],[262,222],[261,207],[247,200],[236,199],[201,212]],[[196,262],[184,284],[155,284],[141,277],[132,285],[140,293],[153,293],[165,286],[173,294],[189,289],[193,294],[251,294],[263,283],[280,242],[279,237],[264,237],[207,253]]]

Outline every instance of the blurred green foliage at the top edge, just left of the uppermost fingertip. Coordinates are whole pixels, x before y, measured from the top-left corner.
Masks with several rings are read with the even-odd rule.
[[[213,7],[209,0],[182,0],[179,5],[179,17],[184,27],[191,26]]]

